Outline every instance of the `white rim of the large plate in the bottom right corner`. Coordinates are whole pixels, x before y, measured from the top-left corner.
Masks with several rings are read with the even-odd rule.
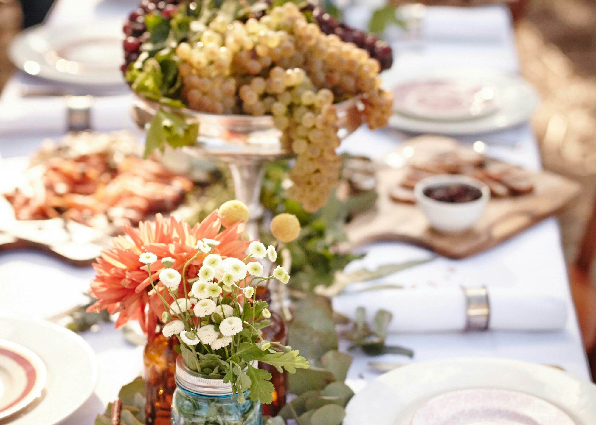
[[[470,364],[475,364],[476,367],[485,367],[486,370],[490,370],[491,372],[493,372],[493,368],[495,367],[506,367],[511,368],[511,370],[515,370],[517,373],[519,373],[520,371],[525,371],[526,374],[548,374],[551,378],[555,378],[557,380],[564,380],[568,383],[569,386],[576,386],[576,388],[582,389],[583,392],[587,392],[588,395],[591,395],[593,393],[594,397],[596,398],[596,385],[585,380],[581,380],[563,370],[559,370],[554,367],[530,363],[522,360],[513,360],[498,357],[452,357],[408,364],[376,377],[374,380],[369,382],[364,389],[362,389],[361,391],[356,393],[355,396],[352,397],[349,404],[346,406],[346,418],[344,418],[343,425],[373,424],[373,422],[371,422],[370,415],[371,408],[374,408],[374,406],[371,407],[371,397],[373,397],[374,400],[377,402],[385,401],[383,406],[393,407],[390,411],[387,409],[384,409],[384,411],[382,411],[379,409],[380,406],[377,406],[377,410],[375,410],[376,414],[374,417],[375,425],[396,425],[398,424],[396,422],[398,418],[401,421],[399,422],[399,425],[402,425],[405,423],[409,424],[409,421],[411,421],[411,415],[413,415],[415,411],[418,410],[418,408],[422,405],[421,403],[426,402],[431,398],[434,398],[434,396],[457,389],[487,388],[487,384],[484,382],[480,382],[477,385],[466,386],[458,386],[455,385],[455,383],[451,382],[443,384],[445,388],[441,388],[440,390],[437,390],[434,387],[429,389],[425,388],[424,395],[418,396],[415,400],[408,400],[406,404],[399,404],[398,402],[396,402],[395,391],[393,393],[387,393],[388,390],[386,382],[395,382],[396,380],[399,380],[400,377],[403,378],[404,375],[409,376],[412,374],[418,374],[420,376],[420,374],[423,374],[422,376],[424,376],[425,373],[429,374],[433,370],[445,370],[448,367],[459,367],[462,368],[462,370],[467,370],[466,368],[469,369]],[[476,378],[477,377],[475,377],[475,379]],[[420,382],[414,382],[412,385],[420,386]],[[593,408],[590,407],[589,411],[582,411],[578,413],[578,411],[576,410],[577,405],[574,407],[563,404],[564,401],[562,400],[553,401],[548,399],[548,397],[545,395],[540,395],[532,391],[512,387],[507,388],[505,386],[496,385],[492,386],[492,388],[517,390],[521,392],[526,392],[530,395],[537,396],[538,398],[545,399],[545,401],[550,402],[551,404],[563,410],[564,413],[566,413],[574,421],[576,421],[577,425],[592,425],[596,423],[596,404]],[[541,388],[541,390],[546,391],[544,388]],[[392,396],[393,398],[391,398]],[[579,401],[575,400],[575,402]],[[415,407],[415,405],[417,404],[418,407]],[[403,410],[410,410],[411,414],[403,416]],[[401,414],[402,416],[399,417],[399,414]],[[403,422],[403,420],[408,420],[408,422]]]

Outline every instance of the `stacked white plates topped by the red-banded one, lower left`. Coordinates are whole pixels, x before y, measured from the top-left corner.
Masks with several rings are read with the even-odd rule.
[[[64,327],[0,318],[0,423],[54,425],[91,396],[97,360]]]

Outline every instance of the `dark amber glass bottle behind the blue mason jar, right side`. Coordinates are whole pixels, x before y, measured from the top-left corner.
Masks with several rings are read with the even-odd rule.
[[[257,286],[255,298],[271,303],[271,292],[265,287]],[[271,305],[269,307],[271,307]],[[269,319],[271,320],[271,326],[261,330],[263,338],[268,341],[279,342],[286,345],[288,337],[285,321],[280,314],[271,310],[271,308],[269,308],[269,310],[271,311],[271,318]],[[259,368],[265,369],[271,373],[271,382],[275,387],[275,391],[273,392],[273,402],[271,404],[263,404],[263,415],[275,416],[285,405],[285,397],[288,390],[288,373],[285,370],[283,373],[280,373],[275,367],[265,363],[259,363]]]

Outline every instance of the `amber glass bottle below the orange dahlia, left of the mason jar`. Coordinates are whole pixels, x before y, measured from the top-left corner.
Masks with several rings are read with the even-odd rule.
[[[176,389],[176,337],[166,338],[161,331],[147,342],[143,354],[145,413],[147,425],[170,425],[172,395]]]

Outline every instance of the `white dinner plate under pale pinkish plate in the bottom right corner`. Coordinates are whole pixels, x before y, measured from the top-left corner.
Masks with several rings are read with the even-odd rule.
[[[466,389],[523,392],[559,408],[576,425],[596,424],[596,385],[593,383],[557,368],[490,357],[414,363],[385,373],[353,396],[346,407],[343,424],[412,425],[415,413],[429,401]]]

